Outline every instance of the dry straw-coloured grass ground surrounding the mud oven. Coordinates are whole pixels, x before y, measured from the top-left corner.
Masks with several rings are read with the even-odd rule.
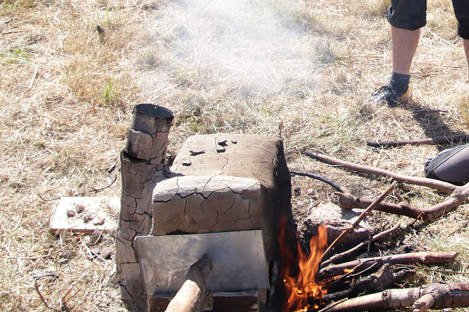
[[[302,150],[423,176],[445,146],[377,150],[367,140],[467,132],[468,70],[449,1],[430,0],[412,68],[413,105],[367,105],[389,79],[383,0],[2,0],[0,2],[0,310],[124,311],[112,287],[113,258],[92,258],[86,237],[51,235],[57,200],[119,196],[119,152],[132,109],[153,103],[175,113],[169,154],[193,134],[281,136],[290,169],[317,173],[355,195],[376,196],[387,181],[314,162]],[[97,25],[105,32],[101,36]],[[446,113],[414,115],[419,109]],[[106,168],[118,163],[118,170]],[[94,189],[111,187],[99,194]],[[292,178],[301,222],[332,189]],[[414,205],[442,196],[397,191]],[[43,198],[41,199],[39,195]],[[459,251],[446,270],[466,271],[469,206],[402,230],[381,251]],[[397,220],[375,213],[376,230]],[[454,234],[449,235],[456,229]],[[97,247],[113,248],[107,235]],[[435,269],[442,267],[435,267]],[[409,283],[467,282],[419,269]],[[37,289],[36,290],[36,285]],[[405,285],[404,285],[405,286]]]

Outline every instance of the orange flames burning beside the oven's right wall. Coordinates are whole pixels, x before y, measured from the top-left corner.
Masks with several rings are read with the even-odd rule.
[[[326,228],[319,226],[318,232],[318,236],[311,238],[311,254],[309,256],[302,251],[300,242],[298,242],[298,257],[295,257],[287,246],[281,246],[285,256],[282,274],[287,295],[287,300],[283,305],[283,312],[308,311],[309,307],[318,308],[316,304],[311,306],[311,303],[308,303],[308,298],[319,299],[326,294],[326,290],[315,280],[322,255],[327,247]],[[285,240],[282,241],[282,239],[285,239],[284,235],[283,233],[280,240],[281,245],[286,242]],[[295,263],[298,263],[298,267],[296,270],[291,269]],[[294,271],[297,270],[299,272],[295,274]]]

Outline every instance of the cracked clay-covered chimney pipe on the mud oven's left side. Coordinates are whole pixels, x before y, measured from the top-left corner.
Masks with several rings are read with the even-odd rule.
[[[171,111],[139,104],[133,112],[126,148],[121,152],[121,212],[116,230],[115,262],[121,295],[127,304],[145,310],[146,296],[134,245],[136,236],[148,235],[152,226],[151,195],[163,172]]]

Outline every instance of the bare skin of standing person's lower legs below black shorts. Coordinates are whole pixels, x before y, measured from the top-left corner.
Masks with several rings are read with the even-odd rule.
[[[391,26],[392,39],[392,70],[396,73],[410,74],[412,59],[419,44],[420,28],[405,30]],[[468,41],[468,40],[464,40]],[[467,49],[466,49],[467,47]],[[464,42],[464,49],[469,53],[469,42]],[[467,59],[469,62],[469,58]]]

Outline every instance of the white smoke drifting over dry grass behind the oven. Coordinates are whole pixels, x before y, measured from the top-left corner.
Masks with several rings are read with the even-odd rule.
[[[214,84],[229,81],[260,92],[285,81],[311,84],[312,36],[272,1],[186,0],[172,3],[161,19],[170,20],[166,34],[177,71],[197,68]]]

